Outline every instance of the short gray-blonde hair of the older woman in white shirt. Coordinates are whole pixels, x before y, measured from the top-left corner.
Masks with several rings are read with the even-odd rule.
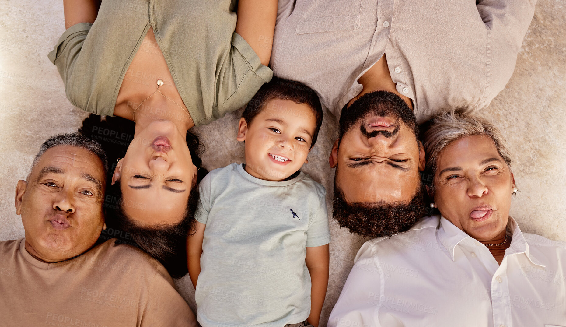
[[[430,128],[424,133],[427,170],[434,176],[440,152],[450,143],[474,135],[490,137],[501,158],[511,168],[511,152],[501,131],[491,122],[470,113],[468,109],[458,108],[436,114]]]

